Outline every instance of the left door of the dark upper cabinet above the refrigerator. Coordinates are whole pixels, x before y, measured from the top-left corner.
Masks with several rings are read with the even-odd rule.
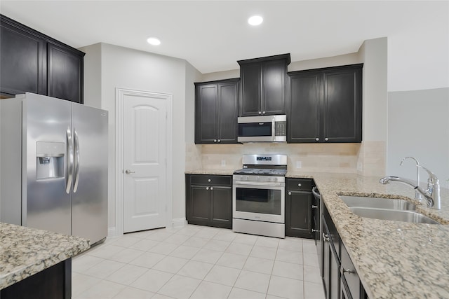
[[[3,16],[0,30],[0,92],[46,95],[46,41]]]

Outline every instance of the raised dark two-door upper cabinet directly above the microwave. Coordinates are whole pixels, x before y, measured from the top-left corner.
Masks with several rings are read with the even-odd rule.
[[[239,64],[239,116],[285,114],[290,54],[240,60]]]

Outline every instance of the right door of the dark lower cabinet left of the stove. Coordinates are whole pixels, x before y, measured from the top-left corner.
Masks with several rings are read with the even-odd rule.
[[[218,228],[232,228],[232,187],[210,187],[210,221]]]

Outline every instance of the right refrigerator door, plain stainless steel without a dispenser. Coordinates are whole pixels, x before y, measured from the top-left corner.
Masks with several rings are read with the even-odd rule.
[[[94,244],[107,237],[108,115],[104,110],[72,105],[72,235]]]

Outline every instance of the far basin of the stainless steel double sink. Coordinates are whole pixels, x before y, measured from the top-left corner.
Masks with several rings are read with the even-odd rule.
[[[392,209],[399,211],[415,211],[416,209],[415,204],[408,202],[407,200],[347,195],[340,195],[340,198],[348,207]]]

